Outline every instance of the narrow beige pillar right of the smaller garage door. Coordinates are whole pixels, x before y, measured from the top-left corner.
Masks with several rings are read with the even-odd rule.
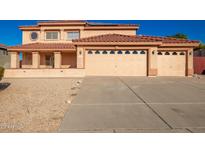
[[[192,76],[194,74],[193,69],[193,49],[188,49],[187,51],[187,76]]]

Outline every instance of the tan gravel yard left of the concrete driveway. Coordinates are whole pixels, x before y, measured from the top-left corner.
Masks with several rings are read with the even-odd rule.
[[[56,132],[82,79],[3,79],[0,132]]]

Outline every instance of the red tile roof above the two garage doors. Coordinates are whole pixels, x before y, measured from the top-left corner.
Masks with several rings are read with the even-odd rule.
[[[185,39],[175,39],[168,37],[142,36],[142,35],[121,35],[105,34],[93,37],[73,40],[73,42],[162,42],[162,43],[199,43]]]

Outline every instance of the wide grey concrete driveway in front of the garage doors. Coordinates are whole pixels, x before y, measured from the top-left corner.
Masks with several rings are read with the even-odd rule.
[[[60,132],[205,132],[205,78],[86,77]]]

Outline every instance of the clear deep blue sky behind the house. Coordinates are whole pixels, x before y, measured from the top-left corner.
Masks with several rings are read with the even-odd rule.
[[[189,39],[205,43],[205,20],[89,20],[100,23],[139,24],[138,34],[168,36],[184,33]],[[21,44],[20,25],[34,25],[37,20],[0,20],[0,43],[6,45]]]

